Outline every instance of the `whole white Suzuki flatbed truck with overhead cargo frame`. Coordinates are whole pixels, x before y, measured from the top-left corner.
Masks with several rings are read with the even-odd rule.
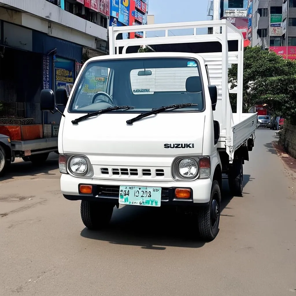
[[[196,34],[213,26],[222,34]],[[193,35],[168,36],[174,29]],[[110,27],[110,55],[83,65],[69,100],[63,89],[41,93],[41,110],[66,107],[58,136],[62,193],[81,200],[89,229],[106,226],[119,204],[170,205],[190,210],[193,232],[213,240],[222,174],[242,195],[243,164],[255,139],[257,113],[242,113],[242,33],[221,20],[137,26],[144,36],[165,30],[165,37],[117,40],[134,30]],[[137,53],[139,46],[155,52]],[[227,77],[233,63],[237,113]],[[105,91],[90,92],[89,83],[104,77]]]

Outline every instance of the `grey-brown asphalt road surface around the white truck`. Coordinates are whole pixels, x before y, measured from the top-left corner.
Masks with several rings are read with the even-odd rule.
[[[59,192],[57,155],[42,170],[12,164],[0,182],[0,295],[296,295],[296,173],[273,135],[257,131],[243,197],[224,184],[210,243],[190,239],[182,216],[138,207],[90,232],[80,202]]]

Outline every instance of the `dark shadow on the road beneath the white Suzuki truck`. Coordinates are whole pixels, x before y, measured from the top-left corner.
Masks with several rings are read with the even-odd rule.
[[[250,175],[244,175],[244,184],[249,181]],[[233,198],[229,192],[227,180],[223,180],[222,195],[221,215]],[[227,216],[234,217],[231,215],[231,210],[230,215]],[[196,231],[192,223],[192,217],[189,214],[176,213],[171,208],[125,206],[114,209],[107,229],[89,231],[84,228],[81,236],[111,244],[139,246],[149,250],[165,250],[166,247],[200,248],[206,242],[198,237],[194,239]]]

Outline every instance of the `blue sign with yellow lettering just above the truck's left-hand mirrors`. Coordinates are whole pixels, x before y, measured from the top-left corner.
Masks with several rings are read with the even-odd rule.
[[[54,91],[64,88],[69,97],[74,84],[74,62],[57,57],[54,64]]]

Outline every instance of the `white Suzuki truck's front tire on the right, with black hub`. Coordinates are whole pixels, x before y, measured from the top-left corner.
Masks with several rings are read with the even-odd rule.
[[[221,191],[218,181],[214,180],[211,189],[210,204],[198,208],[197,223],[201,239],[210,242],[219,232]]]

